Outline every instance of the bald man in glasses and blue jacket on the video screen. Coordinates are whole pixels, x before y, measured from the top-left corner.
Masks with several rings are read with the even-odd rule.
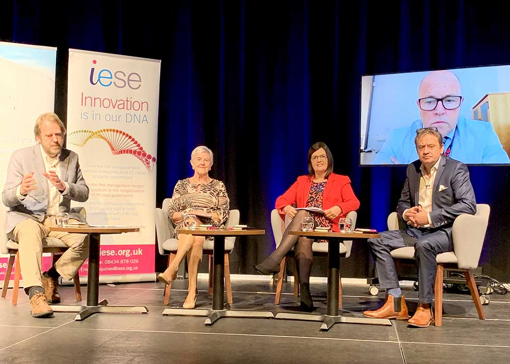
[[[418,159],[414,138],[422,127],[436,127],[443,136],[444,154],[468,164],[510,163],[492,124],[459,116],[464,98],[461,82],[450,71],[427,73],[418,88],[421,119],[393,130],[373,164],[409,164]]]

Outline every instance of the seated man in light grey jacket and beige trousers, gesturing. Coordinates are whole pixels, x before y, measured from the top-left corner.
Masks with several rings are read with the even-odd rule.
[[[66,129],[54,113],[40,115],[34,126],[38,144],[16,150],[9,160],[2,201],[9,208],[5,232],[19,244],[24,290],[33,317],[53,315],[47,302],[60,302],[58,278],[72,279],[87,258],[84,234],[49,231],[58,213],[85,222],[70,209],[71,200],[88,199],[78,155],[62,148]],[[69,249],[48,271],[41,273],[42,239],[55,237]]]

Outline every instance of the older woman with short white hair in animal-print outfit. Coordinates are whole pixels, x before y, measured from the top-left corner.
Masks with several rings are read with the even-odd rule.
[[[191,152],[191,167],[194,174],[190,178],[177,181],[172,200],[168,206],[168,219],[176,227],[184,226],[185,214],[196,216],[196,224],[212,224],[222,227],[228,218],[229,201],[222,181],[209,177],[213,164],[213,152],[205,146],[198,146]],[[179,238],[177,253],[165,272],[158,275],[161,282],[169,284],[177,277],[177,271],[184,256],[188,256],[188,296],[184,308],[194,308],[198,290],[196,278],[202,260],[204,237],[189,234],[175,234]]]

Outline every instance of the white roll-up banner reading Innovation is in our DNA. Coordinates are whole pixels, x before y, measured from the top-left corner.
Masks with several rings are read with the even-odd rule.
[[[102,282],[155,279],[156,166],[161,61],[69,49],[67,148],[90,188],[91,225],[140,226],[101,236]],[[86,276],[88,262],[80,276]]]

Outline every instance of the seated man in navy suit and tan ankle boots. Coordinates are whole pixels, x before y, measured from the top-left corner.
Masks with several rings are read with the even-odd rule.
[[[461,214],[475,214],[476,201],[468,168],[442,155],[443,137],[437,128],[418,129],[415,145],[419,160],[407,167],[397,204],[397,213],[407,227],[404,230],[384,231],[380,238],[368,241],[380,287],[386,289],[386,302],[381,308],[363,314],[373,318],[409,318],[391,251],[414,246],[420,282],[419,303],[408,323],[427,327],[434,321],[431,304],[436,279],[436,256],[453,251],[453,221]]]

